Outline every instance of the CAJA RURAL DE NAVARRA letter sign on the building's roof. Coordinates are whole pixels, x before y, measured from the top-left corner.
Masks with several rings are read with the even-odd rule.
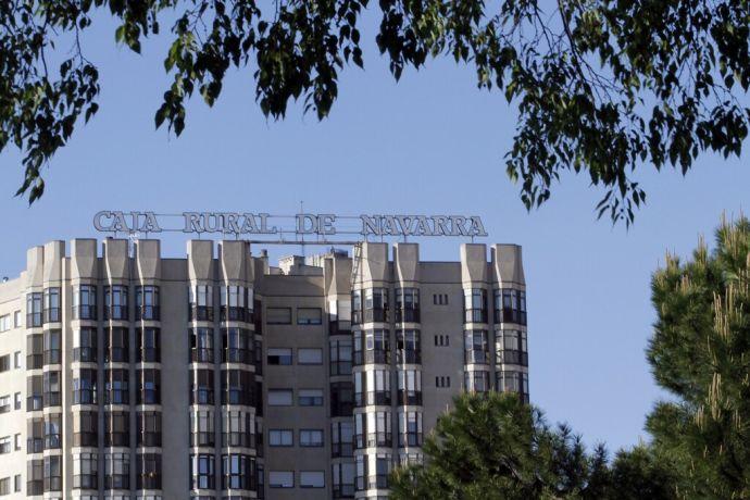
[[[176,221],[175,221],[176,220]],[[293,220],[293,227],[285,227],[285,220]],[[291,224],[287,223],[289,226]],[[313,235],[326,239],[333,235],[368,236],[487,236],[482,218],[475,215],[334,215],[299,213],[271,215],[246,212],[154,212],[101,211],[93,216],[93,227],[104,233],[218,233],[268,236]]]

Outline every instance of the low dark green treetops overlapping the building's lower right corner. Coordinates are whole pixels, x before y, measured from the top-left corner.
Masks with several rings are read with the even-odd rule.
[[[509,395],[462,395],[423,447],[425,465],[391,474],[395,500],[670,499],[672,463],[645,446],[617,453],[586,451],[565,425]]]

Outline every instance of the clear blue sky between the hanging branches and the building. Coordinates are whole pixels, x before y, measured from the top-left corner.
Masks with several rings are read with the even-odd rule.
[[[703,157],[686,178],[641,172],[648,204],[629,232],[596,221],[601,192],[583,176],[566,176],[527,213],[502,165],[515,114],[500,95],[476,89],[471,68],[433,62],[396,84],[371,43],[366,70],[342,75],[323,123],[299,107],[266,121],[246,70],[227,78],[214,109],[193,99],[174,138],[153,128],[168,85],[166,40],[137,55],[115,48],[113,33],[105,24],[84,40],[100,66],[101,110],[45,171],[42,200],[28,208],[14,198],[20,157],[0,159],[0,275],[15,276],[30,246],[97,236],[91,217],[102,209],[293,213],[304,200],[318,213],[478,214],[488,242],[524,248],[533,402],[588,443],[616,449],[646,437],[643,415],[662,396],[643,355],[650,275],[665,250],[687,255],[699,234],[713,239],[723,211],[747,208],[741,161]],[[185,254],[179,236],[166,239],[165,254]],[[458,243],[424,241],[422,257],[458,260]]]

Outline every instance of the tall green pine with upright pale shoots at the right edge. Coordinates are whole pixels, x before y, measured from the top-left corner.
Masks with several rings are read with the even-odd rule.
[[[667,255],[652,280],[648,359],[674,396],[648,418],[686,471],[686,498],[750,498],[750,223],[724,221],[716,248]]]

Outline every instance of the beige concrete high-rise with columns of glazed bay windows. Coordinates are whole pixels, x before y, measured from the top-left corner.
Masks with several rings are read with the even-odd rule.
[[[387,498],[459,391],[528,399],[521,248],[459,253],[29,249],[0,284],[0,497]]]

